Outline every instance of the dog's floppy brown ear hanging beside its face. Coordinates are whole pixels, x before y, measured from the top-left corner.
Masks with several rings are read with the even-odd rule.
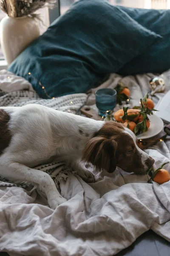
[[[112,173],[116,169],[116,149],[115,140],[94,137],[88,141],[83,151],[82,160],[92,163],[96,167],[96,171],[105,170]]]

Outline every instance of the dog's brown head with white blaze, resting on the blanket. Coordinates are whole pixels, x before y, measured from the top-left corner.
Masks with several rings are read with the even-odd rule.
[[[103,122],[83,152],[82,160],[92,163],[97,171],[115,171],[116,166],[125,172],[144,174],[154,160],[137,146],[137,138],[128,128],[117,122]]]

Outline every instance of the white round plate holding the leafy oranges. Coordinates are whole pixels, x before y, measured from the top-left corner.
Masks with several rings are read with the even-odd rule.
[[[164,128],[164,123],[159,116],[152,115],[152,116],[148,116],[148,118],[150,119],[150,127],[148,128],[147,131],[136,136],[138,140],[145,140],[153,136],[156,136]]]

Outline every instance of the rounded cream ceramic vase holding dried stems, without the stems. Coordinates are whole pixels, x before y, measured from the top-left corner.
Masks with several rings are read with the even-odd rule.
[[[4,17],[0,21],[0,45],[8,66],[39,35],[33,17]]]

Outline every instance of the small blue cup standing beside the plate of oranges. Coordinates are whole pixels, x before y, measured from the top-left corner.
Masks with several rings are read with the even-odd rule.
[[[96,91],[96,106],[99,109],[99,115],[105,116],[106,111],[113,111],[116,107],[116,90],[103,88]]]

